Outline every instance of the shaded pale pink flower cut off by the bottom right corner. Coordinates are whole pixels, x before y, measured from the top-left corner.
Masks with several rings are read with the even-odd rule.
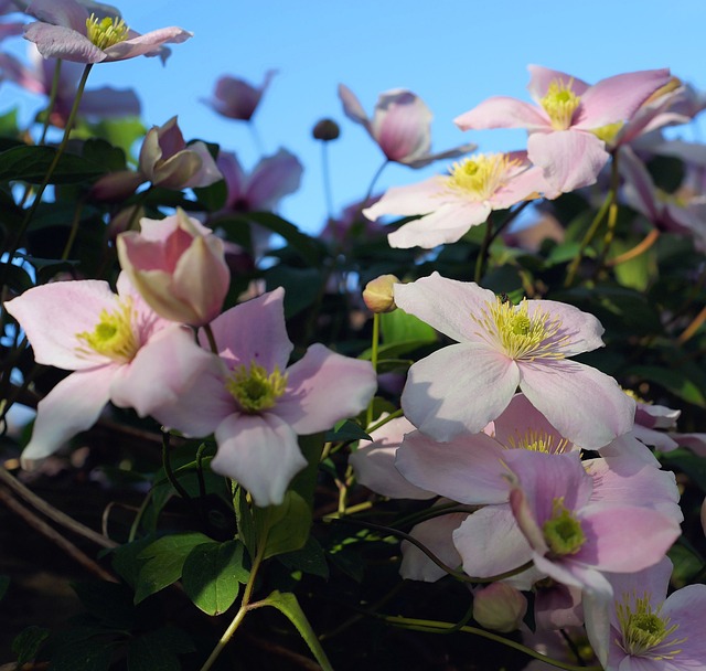
[[[666,596],[672,562],[608,574],[608,605],[586,608],[589,640],[606,671],[682,671],[706,668],[706,585]]]

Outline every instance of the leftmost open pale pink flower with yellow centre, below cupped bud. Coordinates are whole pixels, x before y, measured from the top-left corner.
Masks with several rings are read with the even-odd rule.
[[[168,365],[170,343],[197,350],[188,330],[152,312],[125,274],[117,295],[105,281],[58,281],[4,307],[24,329],[38,363],[74,371],[40,401],[22,452],[25,466],[93,426],[108,401],[145,416],[152,403],[173,398],[182,381]],[[168,332],[172,341],[163,340]]]

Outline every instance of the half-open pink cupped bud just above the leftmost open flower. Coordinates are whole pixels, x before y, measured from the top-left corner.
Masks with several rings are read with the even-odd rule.
[[[161,317],[203,326],[221,312],[231,273],[223,241],[182,210],[164,220],[140,221],[141,233],[118,236],[122,269]]]

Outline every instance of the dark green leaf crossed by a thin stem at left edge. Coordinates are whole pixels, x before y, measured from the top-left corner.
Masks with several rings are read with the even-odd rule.
[[[0,153],[0,182],[22,180],[33,184],[44,181],[56,156],[53,147],[13,147]],[[93,161],[73,153],[64,153],[58,160],[50,184],[74,184],[92,180],[105,173]]]

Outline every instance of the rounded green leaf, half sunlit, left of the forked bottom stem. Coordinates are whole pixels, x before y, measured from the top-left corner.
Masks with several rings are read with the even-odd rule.
[[[238,596],[250,572],[244,566],[240,541],[204,543],[194,547],[182,569],[186,596],[207,615],[225,613]]]

